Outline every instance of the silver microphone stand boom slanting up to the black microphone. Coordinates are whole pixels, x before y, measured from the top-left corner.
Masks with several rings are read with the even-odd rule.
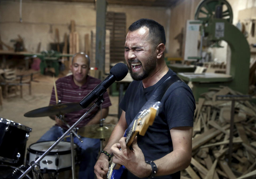
[[[103,94],[101,96],[99,96],[99,98],[94,102],[94,105],[90,107],[90,109],[88,111],[86,111],[85,114],[82,115],[82,117],[80,119],[77,120],[77,122],[75,122],[73,124],[73,126],[71,126],[49,149],[47,149],[45,151],[45,153],[43,153],[43,155],[41,155],[36,161],[32,161],[30,163],[30,167],[24,172],[22,173],[21,176],[19,176],[18,179],[21,179],[23,178],[27,173],[30,172],[30,170],[33,171],[33,176],[34,176],[34,179],[39,179],[39,173],[41,172],[40,170],[40,165],[39,165],[39,162],[62,140],[65,138],[65,136],[67,134],[69,134],[76,126],[77,124],[79,124],[86,116],[87,114],[89,114],[95,107],[99,106],[102,102],[104,101],[104,98],[103,98]],[[73,134],[72,134],[73,135]],[[72,146],[72,145],[71,145]],[[72,173],[72,177],[73,177],[73,173]]]

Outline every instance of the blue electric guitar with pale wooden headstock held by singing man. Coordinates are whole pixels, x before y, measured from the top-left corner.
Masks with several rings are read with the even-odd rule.
[[[155,116],[158,115],[160,106],[161,106],[161,103],[156,102],[149,109],[145,109],[144,111],[142,111],[142,113],[138,116],[138,118],[134,120],[133,126],[128,131],[127,136],[125,136],[126,137],[125,143],[127,147],[130,147],[130,145],[132,144],[137,134],[142,136],[145,135],[147,128],[153,124],[155,120]],[[107,179],[120,179],[123,173],[123,170],[125,170],[125,166],[123,165],[120,166],[112,162],[109,167],[109,171],[107,172]]]

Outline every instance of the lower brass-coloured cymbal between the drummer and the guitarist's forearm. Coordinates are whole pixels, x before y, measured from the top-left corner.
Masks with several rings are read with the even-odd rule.
[[[79,128],[77,134],[87,138],[105,139],[110,137],[114,127],[113,124],[103,124],[102,127],[99,124],[93,124]]]

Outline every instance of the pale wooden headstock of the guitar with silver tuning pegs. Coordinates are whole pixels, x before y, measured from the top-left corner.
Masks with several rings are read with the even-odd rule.
[[[133,131],[139,132],[139,135],[144,136],[147,128],[151,126],[155,120],[155,116],[158,115],[159,108],[161,103],[158,101],[149,109],[145,109],[142,113],[138,116],[138,119],[134,122],[134,129]]]

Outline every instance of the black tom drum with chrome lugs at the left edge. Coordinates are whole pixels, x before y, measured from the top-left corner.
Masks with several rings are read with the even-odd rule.
[[[0,160],[23,165],[27,139],[32,128],[0,117]]]

